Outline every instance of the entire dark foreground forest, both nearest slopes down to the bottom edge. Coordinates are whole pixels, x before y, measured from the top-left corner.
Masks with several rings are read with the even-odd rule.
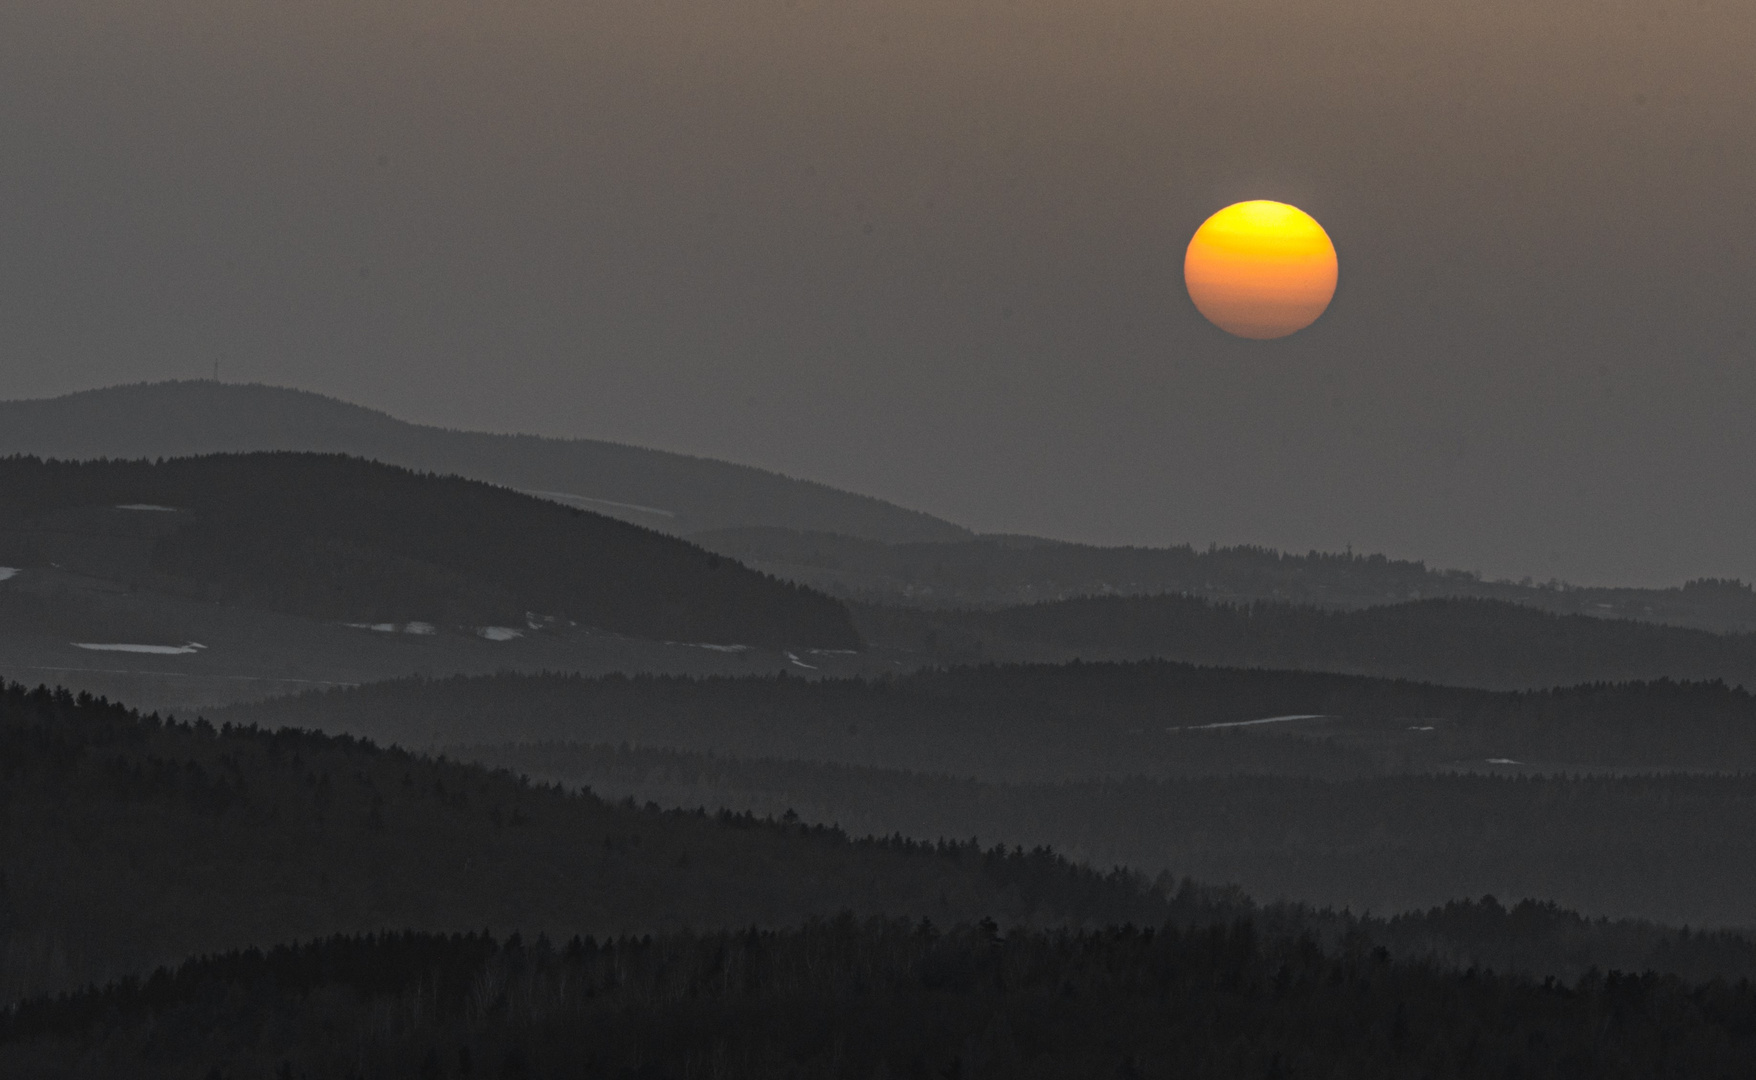
[[[0,989],[30,997],[5,1075],[1693,1076],[1756,1050],[1756,945],[1726,932],[1261,908],[18,685],[0,769]]]

